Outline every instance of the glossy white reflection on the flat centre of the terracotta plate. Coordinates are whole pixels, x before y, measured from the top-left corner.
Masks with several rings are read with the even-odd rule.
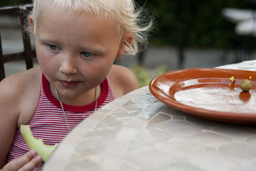
[[[243,92],[239,88],[197,87],[177,91],[174,97],[176,101],[191,107],[256,114],[256,89]]]

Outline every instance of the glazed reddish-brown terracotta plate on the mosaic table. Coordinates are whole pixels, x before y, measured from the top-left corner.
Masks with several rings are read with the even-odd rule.
[[[243,92],[239,84],[251,78],[253,88]],[[230,84],[230,77],[235,82]],[[164,73],[154,78],[150,92],[173,108],[205,119],[256,124],[256,72],[195,68]]]

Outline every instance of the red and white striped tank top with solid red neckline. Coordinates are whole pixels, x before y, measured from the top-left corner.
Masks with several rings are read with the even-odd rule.
[[[97,99],[97,108],[101,108],[115,98],[106,78],[101,84],[102,93]],[[74,129],[86,117],[93,114],[95,102],[84,106],[72,106],[63,103],[70,129]],[[52,96],[48,80],[42,75],[40,99],[36,112],[29,121],[29,126],[35,138],[43,139],[45,144],[54,145],[68,134],[67,123],[58,101]],[[20,129],[17,128],[7,162],[18,158],[29,151]]]

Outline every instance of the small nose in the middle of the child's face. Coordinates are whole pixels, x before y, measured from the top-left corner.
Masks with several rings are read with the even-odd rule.
[[[77,73],[76,61],[73,57],[63,57],[63,60],[60,64],[61,73],[65,73],[67,75]]]

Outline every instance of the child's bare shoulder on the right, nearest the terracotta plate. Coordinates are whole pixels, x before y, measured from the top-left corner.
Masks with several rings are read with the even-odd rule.
[[[136,75],[120,65],[113,65],[108,74],[109,83],[116,98],[127,94],[140,87]]]

